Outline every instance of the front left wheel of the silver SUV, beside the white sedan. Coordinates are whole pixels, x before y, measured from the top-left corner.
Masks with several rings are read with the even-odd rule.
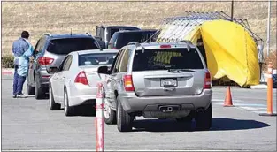
[[[104,122],[108,125],[116,124],[116,112],[115,110],[111,109],[107,99],[105,98],[104,98],[103,118],[104,118]]]

